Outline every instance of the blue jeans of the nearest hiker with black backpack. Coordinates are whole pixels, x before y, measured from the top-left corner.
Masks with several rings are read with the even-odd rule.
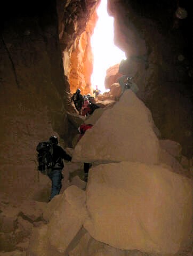
[[[60,189],[62,187],[62,169],[52,170],[48,177],[52,181],[52,191],[50,199],[60,193]]]

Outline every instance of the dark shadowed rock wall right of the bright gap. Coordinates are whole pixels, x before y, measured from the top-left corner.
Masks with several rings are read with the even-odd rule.
[[[183,19],[176,17],[178,4],[189,10]],[[152,111],[163,138],[180,142],[183,154],[191,157],[193,15],[189,5],[188,1],[108,1],[108,12],[115,18],[115,44],[128,59],[119,71],[130,75],[133,69],[138,97]]]

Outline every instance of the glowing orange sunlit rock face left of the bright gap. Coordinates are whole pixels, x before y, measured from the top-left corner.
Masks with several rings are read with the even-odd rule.
[[[63,66],[71,92],[77,88],[82,93],[91,91],[93,55],[91,35],[98,16],[95,11],[99,1],[58,1],[59,38]]]

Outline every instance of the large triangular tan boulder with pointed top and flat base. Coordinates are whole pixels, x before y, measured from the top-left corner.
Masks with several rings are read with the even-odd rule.
[[[158,139],[151,113],[136,95],[127,90],[120,101],[86,131],[77,143],[73,162],[158,162]],[[92,143],[91,143],[92,141]]]

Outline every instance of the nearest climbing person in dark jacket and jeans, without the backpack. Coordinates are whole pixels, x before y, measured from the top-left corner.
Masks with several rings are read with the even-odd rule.
[[[66,151],[58,145],[58,138],[56,136],[50,137],[49,141],[51,141],[53,145],[53,162],[55,163],[51,172],[47,174],[52,181],[51,200],[54,196],[60,193],[62,187],[62,169],[64,167],[62,159],[71,161],[71,156],[69,156]]]

